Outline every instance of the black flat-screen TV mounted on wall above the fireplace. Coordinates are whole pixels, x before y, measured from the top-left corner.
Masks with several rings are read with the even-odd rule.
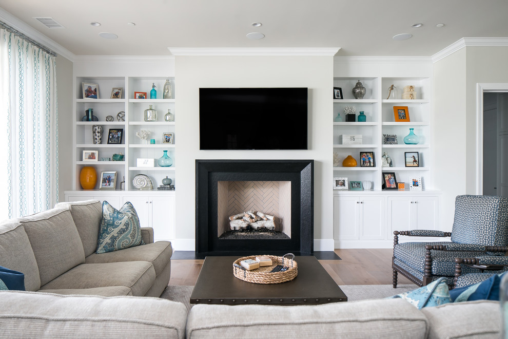
[[[200,88],[200,149],[307,149],[308,89]]]

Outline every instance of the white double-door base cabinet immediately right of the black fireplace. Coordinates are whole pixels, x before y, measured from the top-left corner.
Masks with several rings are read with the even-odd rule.
[[[334,238],[384,239],[385,211],[383,196],[334,197]]]

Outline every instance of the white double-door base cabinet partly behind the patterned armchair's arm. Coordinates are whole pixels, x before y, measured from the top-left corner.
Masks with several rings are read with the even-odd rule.
[[[437,230],[437,196],[388,197],[388,222],[393,231]]]

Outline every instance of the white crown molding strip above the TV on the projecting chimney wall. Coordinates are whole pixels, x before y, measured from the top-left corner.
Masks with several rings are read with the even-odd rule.
[[[340,48],[175,48],[172,55],[327,55],[337,54]]]

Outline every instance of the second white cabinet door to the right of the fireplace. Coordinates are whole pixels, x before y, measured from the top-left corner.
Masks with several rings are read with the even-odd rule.
[[[360,238],[384,239],[386,202],[383,197],[362,197],[360,199]]]

